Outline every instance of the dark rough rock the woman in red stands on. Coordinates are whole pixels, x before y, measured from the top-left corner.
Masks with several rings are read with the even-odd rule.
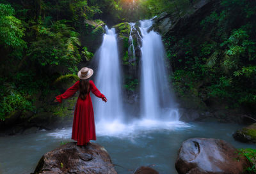
[[[35,173],[116,174],[108,152],[96,143],[67,143],[42,156]]]

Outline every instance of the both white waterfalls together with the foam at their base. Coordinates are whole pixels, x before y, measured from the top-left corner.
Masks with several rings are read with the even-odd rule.
[[[154,31],[148,33],[152,25],[151,20],[143,20],[140,23],[141,34],[135,30],[134,33],[138,33],[143,46],[141,47],[140,92],[142,117],[138,118],[124,113],[122,106],[124,95],[121,94],[122,80],[115,29],[105,27],[106,34],[94,58],[97,64],[94,72],[95,85],[108,98],[108,102],[104,103],[92,94],[97,136],[125,137],[125,140],[126,138],[136,140],[141,134],[145,136],[145,133],[150,131],[189,127],[188,124],[179,121],[179,111],[175,107],[172,92],[168,87],[161,36]],[[51,134],[51,136],[69,137],[71,131],[72,127]]]

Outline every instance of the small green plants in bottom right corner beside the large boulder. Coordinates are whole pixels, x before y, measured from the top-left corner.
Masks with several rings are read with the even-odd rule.
[[[246,148],[246,149],[238,149],[238,154],[240,156],[245,156],[250,161],[250,167],[245,170],[248,173],[256,173],[256,149]]]

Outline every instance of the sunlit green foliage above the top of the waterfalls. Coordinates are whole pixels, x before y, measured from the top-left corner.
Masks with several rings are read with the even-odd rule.
[[[98,13],[96,16],[108,20],[104,15],[108,14],[111,16],[113,24],[152,18],[163,12],[173,13],[180,18],[193,11],[194,3],[189,0],[88,0],[90,6],[96,6],[102,13]]]

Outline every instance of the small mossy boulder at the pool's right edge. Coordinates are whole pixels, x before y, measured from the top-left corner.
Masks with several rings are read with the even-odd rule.
[[[237,130],[236,133],[233,134],[233,137],[237,141],[242,141],[244,143],[256,143],[256,123],[244,127],[241,130]]]

